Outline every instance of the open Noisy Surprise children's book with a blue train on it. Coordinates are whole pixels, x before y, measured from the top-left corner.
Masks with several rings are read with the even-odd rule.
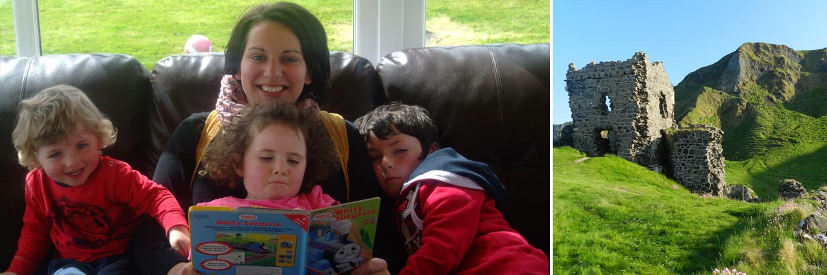
[[[193,268],[203,274],[343,274],[373,254],[380,198],[314,211],[189,207]]]

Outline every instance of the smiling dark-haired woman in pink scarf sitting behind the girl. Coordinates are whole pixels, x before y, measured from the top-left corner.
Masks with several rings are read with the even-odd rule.
[[[314,119],[323,121],[336,145],[341,172],[322,181],[324,192],[340,202],[380,196],[364,141],[356,126],[342,116],[320,111],[316,98],[323,97],[330,78],[330,53],[322,24],[304,7],[276,2],[252,7],[232,30],[224,53],[224,72],[216,110],[196,113],[182,121],[167,141],[152,178],[170,189],[181,207],[219,197],[246,197],[242,187],[219,187],[203,173],[201,156],[222,126],[241,117],[246,106],[266,102],[294,102]],[[380,211],[380,213],[390,211]],[[401,243],[394,234],[390,215],[380,214],[374,256],[353,274],[388,273],[380,258],[403,260]],[[165,249],[146,230],[133,239],[133,253],[142,273],[192,273],[187,259]],[[163,237],[161,235],[160,237]],[[391,261],[391,262],[394,262]],[[152,263],[151,269],[146,264]]]

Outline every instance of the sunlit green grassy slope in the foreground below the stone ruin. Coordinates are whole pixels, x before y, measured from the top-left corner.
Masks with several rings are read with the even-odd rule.
[[[799,245],[792,234],[796,222],[814,211],[804,201],[701,197],[613,155],[578,161],[585,154],[570,147],[552,154],[554,274],[827,270],[825,249]]]

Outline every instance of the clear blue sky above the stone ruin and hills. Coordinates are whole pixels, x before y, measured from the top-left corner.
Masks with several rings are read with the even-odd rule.
[[[554,0],[552,123],[571,121],[566,69],[645,52],[673,85],[746,42],[827,48],[825,0]]]

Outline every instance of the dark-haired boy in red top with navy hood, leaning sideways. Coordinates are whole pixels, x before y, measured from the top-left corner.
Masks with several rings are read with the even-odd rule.
[[[549,260],[500,213],[504,187],[486,164],[439,149],[422,107],[399,102],[355,121],[394,207],[409,258],[400,274],[548,274]]]

